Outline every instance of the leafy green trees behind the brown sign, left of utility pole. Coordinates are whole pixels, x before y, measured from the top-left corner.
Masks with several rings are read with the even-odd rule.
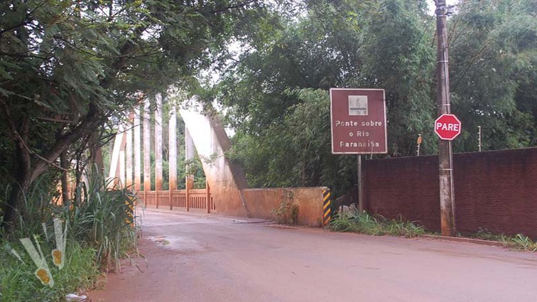
[[[248,45],[216,98],[229,108],[234,158],[251,185],[342,192],[356,181],[355,156],[330,153],[329,87],[386,89],[391,156],[414,153],[418,134],[433,137],[433,28],[423,3],[304,1]]]

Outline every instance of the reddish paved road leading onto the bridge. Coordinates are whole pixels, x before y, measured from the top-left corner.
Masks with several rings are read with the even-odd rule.
[[[153,211],[143,224],[148,268],[110,274],[93,302],[537,301],[537,254]]]

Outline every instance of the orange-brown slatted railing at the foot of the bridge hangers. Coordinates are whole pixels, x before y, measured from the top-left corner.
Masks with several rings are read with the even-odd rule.
[[[139,191],[137,197],[146,207],[156,207],[166,210],[197,209],[215,212],[215,203],[206,189],[169,190],[165,191]],[[187,203],[188,199],[188,203]],[[170,202],[171,200],[171,202]],[[210,202],[207,204],[207,200]]]

